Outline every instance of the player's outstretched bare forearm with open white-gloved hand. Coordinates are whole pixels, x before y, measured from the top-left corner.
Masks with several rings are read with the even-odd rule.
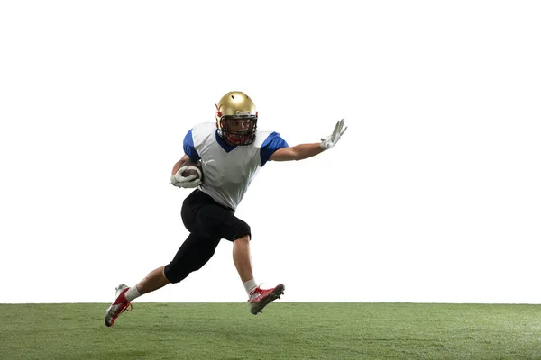
[[[270,159],[273,161],[291,161],[302,160],[308,157],[314,157],[317,154],[321,154],[329,148],[333,148],[338,142],[340,137],[344,135],[347,126],[344,128],[344,119],[338,121],[335,125],[335,130],[326,139],[321,139],[321,142],[313,144],[300,144],[289,148],[280,148],[271,155]]]

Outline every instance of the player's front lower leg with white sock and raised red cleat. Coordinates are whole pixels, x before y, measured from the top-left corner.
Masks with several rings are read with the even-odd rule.
[[[253,315],[263,312],[262,310],[265,306],[276,299],[280,299],[280,295],[284,293],[285,289],[283,284],[272,289],[261,289],[258,284],[255,283],[255,280],[253,280],[249,235],[234,240],[233,261],[234,266],[243,281],[244,289],[246,289],[246,293],[248,293],[248,304],[250,305],[250,312],[252,312]]]

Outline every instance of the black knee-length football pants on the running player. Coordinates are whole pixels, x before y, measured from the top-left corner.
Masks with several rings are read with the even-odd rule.
[[[182,222],[190,234],[177,255],[165,266],[165,276],[179,283],[199,270],[214,255],[222,238],[234,241],[252,235],[250,226],[234,216],[230,209],[200,190],[190,193],[182,203]]]

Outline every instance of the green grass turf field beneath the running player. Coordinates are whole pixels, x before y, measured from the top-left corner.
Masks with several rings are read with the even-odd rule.
[[[536,305],[0,304],[0,359],[541,359]]]

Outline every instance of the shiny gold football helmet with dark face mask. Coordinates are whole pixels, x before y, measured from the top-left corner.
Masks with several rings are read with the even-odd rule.
[[[243,125],[235,126],[232,121],[243,121]],[[222,96],[216,103],[216,127],[218,135],[231,144],[252,144],[257,130],[257,112],[250,96],[240,91]]]

